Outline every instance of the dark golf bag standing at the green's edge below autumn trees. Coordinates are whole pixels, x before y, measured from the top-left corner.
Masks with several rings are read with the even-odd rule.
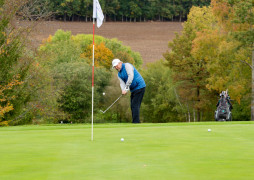
[[[218,104],[217,110],[214,113],[214,118],[216,121],[232,121],[232,113],[231,113],[231,104],[229,99],[224,95],[221,96]]]

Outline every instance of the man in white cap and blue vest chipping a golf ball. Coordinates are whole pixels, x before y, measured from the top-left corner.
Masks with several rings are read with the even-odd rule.
[[[132,64],[123,63],[119,59],[112,61],[112,68],[118,71],[122,94],[125,95],[131,91],[132,123],[140,123],[139,111],[146,87],[143,77]]]

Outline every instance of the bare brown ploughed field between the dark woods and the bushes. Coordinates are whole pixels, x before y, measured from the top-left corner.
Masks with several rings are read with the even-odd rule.
[[[35,44],[38,46],[58,29],[71,31],[73,35],[93,33],[91,22],[47,21],[37,25],[37,31],[33,35]],[[146,65],[162,58],[162,54],[168,49],[168,42],[175,37],[175,32],[181,30],[182,23],[178,22],[106,22],[99,29],[96,27],[95,34],[119,39],[132,50],[140,52]]]

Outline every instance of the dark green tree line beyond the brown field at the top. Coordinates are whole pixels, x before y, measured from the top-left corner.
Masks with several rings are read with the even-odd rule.
[[[53,19],[92,21],[93,0],[40,0],[54,13]],[[183,21],[192,6],[211,0],[99,0],[107,21]]]

